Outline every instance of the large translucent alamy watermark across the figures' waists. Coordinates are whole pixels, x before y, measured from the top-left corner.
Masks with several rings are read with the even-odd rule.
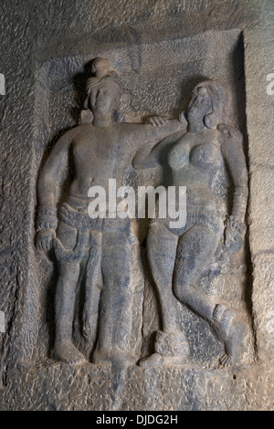
[[[136,194],[132,186],[117,189],[116,179],[109,179],[108,190],[91,186],[88,197],[93,198],[88,206],[92,219],[153,219],[158,215],[169,220],[170,228],[183,228],[186,223],[186,186],[138,186]]]

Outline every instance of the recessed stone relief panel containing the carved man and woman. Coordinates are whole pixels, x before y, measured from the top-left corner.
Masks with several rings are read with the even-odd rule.
[[[237,30],[40,65],[37,292],[25,333],[34,360],[254,359],[244,107]],[[90,219],[90,185],[113,178],[135,190],[186,186],[185,227]]]

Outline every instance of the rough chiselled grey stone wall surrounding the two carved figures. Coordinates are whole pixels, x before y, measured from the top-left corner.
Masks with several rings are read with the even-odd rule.
[[[271,213],[274,96],[266,93],[266,77],[273,72],[272,26],[271,0],[120,0],[115,3],[115,10],[111,1],[2,2],[0,31],[4,36],[0,73],[5,75],[6,95],[0,96],[0,310],[5,311],[6,332],[0,333],[0,372],[4,382],[4,389],[0,389],[1,409],[107,410],[117,395],[123,398],[117,406],[124,410],[274,408],[273,372],[268,366],[274,355],[274,248],[271,245],[274,243],[273,211]],[[205,30],[208,33],[204,34]],[[226,37],[223,31],[227,31]],[[233,54],[241,31],[244,32],[247,92],[252,302],[249,266],[246,273],[245,265],[236,264],[228,274],[223,267],[224,272],[217,278],[221,281],[222,276],[226,277],[222,282],[223,296],[231,292],[226,287],[228,277],[232,289],[237,290],[240,284],[241,293],[248,294],[247,314],[252,307],[258,358],[262,363],[238,367],[237,371],[203,370],[201,366],[196,369],[197,361],[204,361],[205,366],[213,364],[219,344],[210,338],[205,326],[199,326],[203,322],[185,310],[189,330],[203,332],[200,344],[190,340],[195,356],[191,368],[143,371],[132,367],[125,377],[122,393],[115,383],[111,385],[117,373],[115,369],[92,365],[68,368],[52,365],[50,361],[47,368],[44,362],[44,366],[29,369],[30,361],[36,358],[45,361],[47,357],[48,313],[43,302],[47,294],[45,285],[54,269],[45,259],[35,256],[33,245],[37,171],[47,145],[50,149],[57,132],[75,123],[73,111],[69,109],[74,94],[69,78],[81,72],[90,58],[108,54],[113,58],[111,65],[117,67],[125,79],[123,109],[127,120],[138,121],[148,113],[173,115],[183,107],[179,106],[180,101],[196,82],[187,79],[187,70],[191,67],[195,70],[195,79],[205,76],[225,79],[231,88],[236,84],[234,107],[243,112],[243,52],[239,48]],[[220,46],[222,57],[217,51]],[[163,47],[167,51],[162,58],[158,49]],[[115,62],[114,52],[120,52],[126,60]],[[191,58],[195,60],[192,62]],[[171,67],[168,67],[169,60]],[[155,62],[159,64],[158,70]],[[231,70],[234,70],[233,76]],[[182,73],[185,79],[180,80]],[[157,84],[153,81],[155,76]],[[180,82],[183,93],[178,92]],[[151,98],[146,98],[146,87],[155,93],[153,103]],[[178,93],[182,97],[176,99]],[[171,101],[174,110],[170,109]],[[75,107],[77,105],[76,100]],[[237,123],[238,117],[240,123]],[[242,114],[232,118],[232,125],[242,131],[245,131],[244,123]],[[129,174],[132,177],[131,172]],[[132,177],[133,180],[136,178]],[[136,260],[140,257],[138,250],[135,257]],[[142,278],[139,267],[136,263],[133,276],[136,284],[133,319],[138,322],[132,327],[130,345],[141,355],[141,349],[145,354],[150,347],[150,335],[157,330],[158,321],[149,279]],[[239,276],[245,277],[244,280],[238,282]],[[206,283],[205,276],[203,281],[214,295],[218,285],[212,278]],[[247,283],[248,288],[242,291]],[[231,296],[235,297],[233,293]],[[49,301],[52,298],[49,293]],[[142,307],[143,300],[145,307]],[[245,307],[244,302],[236,301],[236,306]],[[154,318],[146,316],[150,312]],[[142,316],[147,320],[143,326]],[[190,339],[194,338],[190,334]],[[213,351],[208,361],[205,343],[210,344]],[[17,361],[23,362],[26,369],[13,370]]]

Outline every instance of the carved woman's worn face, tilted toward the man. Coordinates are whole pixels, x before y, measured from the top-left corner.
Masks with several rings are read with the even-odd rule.
[[[205,115],[212,112],[212,100],[205,87],[197,86],[187,107],[187,120],[190,124],[201,124]]]

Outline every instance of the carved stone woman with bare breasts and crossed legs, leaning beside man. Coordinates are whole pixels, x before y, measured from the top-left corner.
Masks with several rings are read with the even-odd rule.
[[[239,131],[222,124],[226,93],[216,81],[197,85],[185,112],[187,131],[170,136],[147,154],[139,152],[133,166],[153,168],[165,165],[165,185],[186,186],[186,225],[172,229],[168,220],[150,226],[148,256],[159,294],[163,332],[158,332],[155,353],[141,361],[142,366],[166,362],[182,363],[188,348],[178,318],[175,298],[205,319],[225,344],[222,365],[242,358],[248,334],[237,311],[216,303],[198,280],[212,260],[222,235],[227,246],[238,246],[245,233],[248,200],[248,173]],[[234,185],[231,214],[224,219],[213,191],[216,171],[226,162]],[[181,343],[181,348],[180,348]],[[174,351],[172,351],[174,349]]]

